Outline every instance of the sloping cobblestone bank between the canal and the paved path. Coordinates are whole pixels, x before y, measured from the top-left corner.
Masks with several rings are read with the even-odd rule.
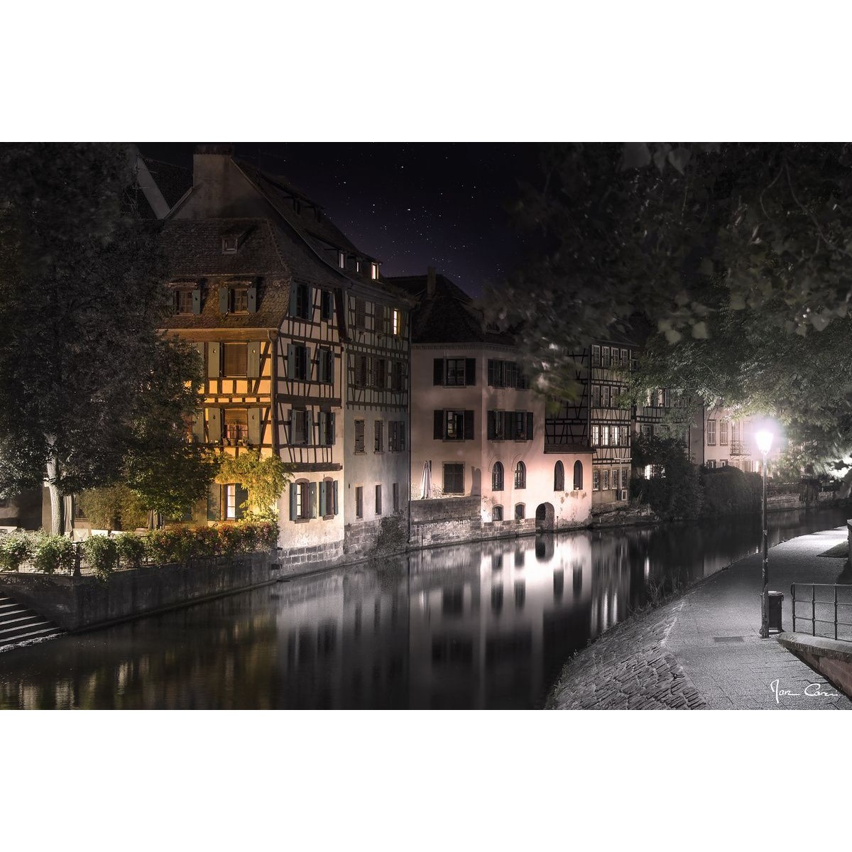
[[[551,710],[703,710],[705,700],[665,649],[683,602],[608,630],[562,670]]]

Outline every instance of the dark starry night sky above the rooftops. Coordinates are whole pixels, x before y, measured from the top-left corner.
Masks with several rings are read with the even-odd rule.
[[[147,157],[192,166],[192,143],[139,143]],[[427,266],[472,296],[522,261],[507,206],[539,182],[538,146],[497,143],[236,143],[235,154],[285,176],[325,208],[384,275]]]

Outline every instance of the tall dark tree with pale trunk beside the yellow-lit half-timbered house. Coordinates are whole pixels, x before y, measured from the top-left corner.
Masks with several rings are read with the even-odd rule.
[[[166,268],[132,180],[119,145],[0,148],[0,491],[46,482],[54,532],[63,495],[202,458],[199,360],[157,331]]]

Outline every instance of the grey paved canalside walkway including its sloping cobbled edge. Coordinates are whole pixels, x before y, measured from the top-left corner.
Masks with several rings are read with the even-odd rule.
[[[769,550],[769,588],[784,593],[786,630],[792,630],[790,584],[838,582],[845,560],[819,554],[846,536],[846,527],[838,527]],[[608,630],[569,661],[549,706],[852,709],[849,699],[774,638],[760,638],[761,562],[759,554],[735,562],[676,601]],[[848,576],[845,569],[841,581]],[[805,694],[813,683],[830,695]]]

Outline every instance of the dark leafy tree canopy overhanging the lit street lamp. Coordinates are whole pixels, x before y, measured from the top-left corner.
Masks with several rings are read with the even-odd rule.
[[[538,388],[568,398],[572,354],[638,317],[636,395],[780,417],[826,463],[852,446],[850,197],[849,144],[550,147],[517,205],[538,256],[486,312],[525,327]]]

